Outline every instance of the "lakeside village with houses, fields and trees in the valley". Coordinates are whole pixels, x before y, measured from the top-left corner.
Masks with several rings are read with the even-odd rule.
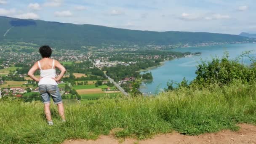
[[[164,49],[161,46],[147,45],[145,47],[142,50],[135,47],[129,51],[120,50],[113,52],[108,51],[108,49],[83,52],[78,50],[57,50],[53,48],[52,58],[57,59],[65,67],[68,67],[67,73],[64,75],[65,80],[59,82],[59,90],[63,95],[69,95],[72,89],[75,89],[73,94],[77,95],[102,94],[107,91],[117,91],[115,85],[104,77],[104,74],[107,74],[118,85],[124,88],[125,91],[137,91],[139,85],[133,85],[133,82],[139,83],[143,79],[152,80],[151,74],[139,75],[137,71],[140,69],[156,67],[164,60],[192,56],[192,53],[173,51],[166,53],[160,50]],[[154,47],[156,50],[148,51],[147,48],[151,47]],[[99,52],[99,50],[101,51]],[[26,93],[38,92],[37,83],[27,76],[29,67],[41,58],[35,48],[15,44],[0,45],[0,56],[0,88],[2,96],[22,97]],[[126,72],[123,71],[124,69],[127,69],[125,70]],[[39,72],[37,71],[35,75],[38,76]],[[71,80],[73,82],[70,82],[67,78],[71,76],[74,77]],[[66,88],[66,85],[69,83],[72,83],[72,86]],[[82,88],[79,87],[81,85],[83,85]],[[91,91],[86,91],[87,89],[93,89],[94,91],[97,89],[98,92],[92,93]]]

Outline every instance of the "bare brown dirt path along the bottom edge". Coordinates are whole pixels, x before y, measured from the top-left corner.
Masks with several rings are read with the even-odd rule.
[[[99,136],[93,140],[67,140],[63,144],[256,144],[256,126],[240,124],[240,131],[221,131],[200,136],[184,136],[170,133],[154,136],[152,139],[114,139],[113,136]]]

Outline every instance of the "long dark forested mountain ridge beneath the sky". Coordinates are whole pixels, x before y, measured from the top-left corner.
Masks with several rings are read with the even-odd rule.
[[[56,48],[93,45],[170,45],[207,42],[243,42],[247,37],[207,32],[152,32],[91,24],[67,24],[0,16],[0,43],[26,42]]]

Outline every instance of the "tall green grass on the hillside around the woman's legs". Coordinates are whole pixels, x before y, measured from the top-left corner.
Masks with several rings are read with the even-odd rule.
[[[181,88],[155,97],[101,99],[95,104],[65,105],[67,122],[61,123],[51,107],[53,126],[45,122],[43,104],[0,102],[0,143],[61,143],[65,139],[96,139],[109,134],[145,139],[178,131],[187,135],[238,130],[237,123],[256,123],[256,84],[237,81],[207,89]]]

